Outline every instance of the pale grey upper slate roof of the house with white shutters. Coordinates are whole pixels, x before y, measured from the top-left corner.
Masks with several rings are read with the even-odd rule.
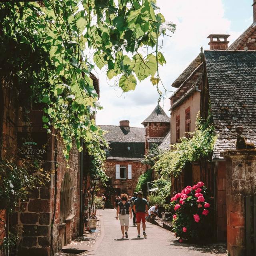
[[[145,128],[100,125],[108,142],[145,142]]]

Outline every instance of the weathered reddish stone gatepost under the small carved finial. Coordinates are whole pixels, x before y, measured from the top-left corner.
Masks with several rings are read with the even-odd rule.
[[[245,256],[245,196],[256,195],[256,150],[228,150],[221,156],[226,160],[228,252]]]

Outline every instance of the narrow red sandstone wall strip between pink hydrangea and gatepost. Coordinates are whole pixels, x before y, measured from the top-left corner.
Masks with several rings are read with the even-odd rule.
[[[227,210],[226,210],[226,163],[218,163],[217,174],[217,238],[227,239]]]

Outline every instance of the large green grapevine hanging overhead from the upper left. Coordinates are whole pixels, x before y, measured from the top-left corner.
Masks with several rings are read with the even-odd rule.
[[[150,77],[160,93],[158,65],[166,61],[158,37],[175,30],[156,0],[10,1],[0,3],[0,23],[0,72],[24,109],[40,103],[44,128],[58,129],[66,158],[72,139],[82,150],[83,138],[97,164],[104,138],[92,116],[102,107],[90,72],[104,68],[124,92]]]

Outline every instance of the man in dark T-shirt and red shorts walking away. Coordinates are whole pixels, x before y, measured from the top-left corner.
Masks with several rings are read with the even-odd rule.
[[[140,222],[142,222],[143,236],[146,235],[146,216],[148,216],[148,201],[142,198],[143,193],[139,191],[138,198],[134,200],[133,210],[136,213],[138,236],[140,238]]]

